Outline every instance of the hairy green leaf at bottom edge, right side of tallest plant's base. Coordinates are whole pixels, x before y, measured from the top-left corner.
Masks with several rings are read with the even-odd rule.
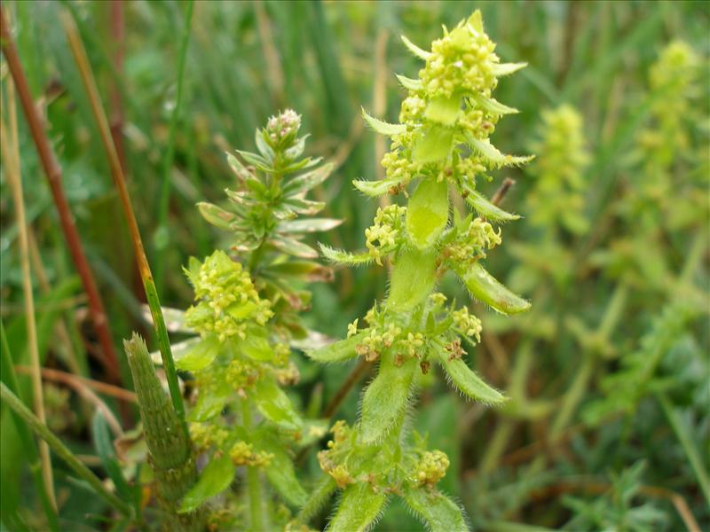
[[[463,513],[438,491],[406,487],[402,497],[430,532],[468,532]]]

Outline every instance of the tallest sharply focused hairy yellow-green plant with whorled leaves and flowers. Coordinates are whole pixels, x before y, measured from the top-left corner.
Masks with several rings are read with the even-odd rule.
[[[498,79],[525,64],[501,63],[495,44],[485,34],[480,12],[462,20],[424,51],[402,37],[406,47],[425,61],[417,79],[398,75],[408,90],[399,121],[387,123],[364,113],[377,133],[391,138],[382,160],[380,181],[355,181],[367,196],[403,195],[406,204],[377,210],[365,231],[367,251],[351,254],[321,246],[340,264],[390,262],[390,290],[364,317],[348,327],[347,338],[309,353],[322,363],[360,356],[379,361],[377,375],[362,396],[355,426],[339,421],[328,449],[319,453],[327,476],[299,515],[307,520],[335,491],[342,497],[330,530],[368,528],[391,495],[401,497],[427,527],[462,530],[461,508],[436,488],[446,474],[448,459],[426,450],[426,438],[407,438],[421,373],[440,367],[446,379],[467,397],[501,404],[505,397],[473,372],[464,346],[480,340],[481,322],[435,287],[451,271],[470,295],[502,314],[530,307],[488,273],[482,262],[501,244],[503,222],[517,219],[477,190],[488,172],[520,165],[530,157],[501,153],[490,141],[495,124],[517,111],[492,97]],[[477,212],[451,209],[456,195]],[[496,229],[497,227],[497,229]]]

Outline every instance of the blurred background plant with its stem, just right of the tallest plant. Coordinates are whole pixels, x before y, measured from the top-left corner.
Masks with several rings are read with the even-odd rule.
[[[553,403],[547,398],[527,396],[526,382],[533,370],[535,342],[555,342],[558,337],[558,324],[548,301],[553,296],[558,300],[569,289],[577,266],[571,243],[580,239],[589,225],[585,212],[588,191],[585,171],[590,153],[584,119],[569,104],[547,109],[541,118],[538,137],[531,143],[536,159],[526,170],[534,180],[525,206],[531,231],[524,242],[513,242],[509,247],[520,261],[510,273],[509,284],[524,292],[534,290],[537,304],[525,319],[508,325],[525,337],[517,349],[516,363],[510,374],[507,389],[510,401],[501,409],[504,418],[497,424],[480,461],[484,473],[498,465],[509,443],[514,419],[542,419],[552,411]],[[574,321],[572,326],[580,325],[578,322]],[[586,330],[583,336],[589,336]],[[561,422],[556,425],[555,432],[559,432]]]

